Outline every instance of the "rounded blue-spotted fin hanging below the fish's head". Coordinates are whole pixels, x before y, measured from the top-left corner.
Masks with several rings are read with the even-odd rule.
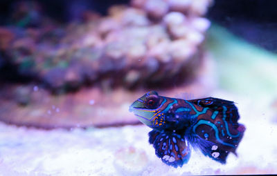
[[[190,148],[181,135],[152,130],[149,137],[150,144],[153,144],[156,155],[161,158],[162,162],[177,168],[186,164],[190,159]]]

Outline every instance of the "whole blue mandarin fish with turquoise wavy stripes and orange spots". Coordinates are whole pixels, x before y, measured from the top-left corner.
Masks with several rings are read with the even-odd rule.
[[[208,97],[204,99],[174,99],[148,92],[134,101],[129,111],[150,131],[161,161],[177,168],[190,159],[190,148],[222,164],[242,139],[245,127],[238,124],[240,115],[233,101]]]

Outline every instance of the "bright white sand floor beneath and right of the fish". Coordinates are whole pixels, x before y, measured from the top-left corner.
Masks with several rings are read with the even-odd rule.
[[[222,165],[193,150],[188,164],[163,164],[148,143],[147,126],[39,130],[0,123],[0,175],[215,175],[277,173],[277,123],[267,99],[235,101],[247,130]],[[135,117],[134,117],[135,118]]]

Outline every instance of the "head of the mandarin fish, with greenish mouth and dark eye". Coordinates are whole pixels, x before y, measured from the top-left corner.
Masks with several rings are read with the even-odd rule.
[[[155,91],[150,91],[134,101],[129,106],[129,111],[134,113],[136,117],[145,125],[153,128],[152,119],[161,110],[163,98],[158,95]]]

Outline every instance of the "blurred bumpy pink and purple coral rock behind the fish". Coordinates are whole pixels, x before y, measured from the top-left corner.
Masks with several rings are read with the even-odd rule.
[[[6,29],[15,39],[2,39],[1,48],[21,75],[36,77],[53,92],[86,84],[180,84],[194,77],[204,52],[209,21],[201,16],[210,2],[197,2],[134,0],[131,6],[111,6],[105,17],[86,12],[82,23]]]

